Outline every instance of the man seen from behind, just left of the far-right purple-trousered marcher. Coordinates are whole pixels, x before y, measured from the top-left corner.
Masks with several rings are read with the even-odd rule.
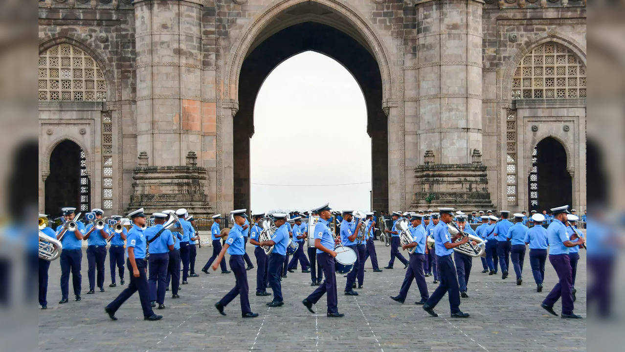
[[[532,275],[536,282],[536,292],[542,291],[542,280],[545,278],[545,261],[547,260],[547,230],[542,227],[545,217],[534,213],[534,226],[527,230],[525,244],[529,244],[529,264],[532,266]]]

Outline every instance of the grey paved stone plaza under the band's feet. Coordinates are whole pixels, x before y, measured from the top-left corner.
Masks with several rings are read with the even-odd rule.
[[[381,266],[386,266],[389,248],[376,242]],[[247,252],[256,259],[252,246]],[[586,319],[572,321],[546,313],[539,304],[557,277],[547,262],[544,291],[536,293],[529,257],[526,255],[524,283],[516,286],[514,273],[506,280],[501,275],[480,273],[481,262],[474,259],[469,279],[470,298],[462,299],[461,309],[469,319],[449,318],[447,296],[436,307],[438,318],[432,318],[414,301],[419,300],[412,284],[406,303],[401,305],[389,296],[396,295],[404,278],[404,269],[395,268],[373,273],[367,261],[364,288],[359,296],[343,296],[345,279],[339,283],[339,311],[342,319],[326,318],[325,297],[310,314],[300,303],[312,292],[310,274],[289,273],[282,281],[285,304],[267,308],[271,296],[257,297],[256,268],[248,271],[252,311],[258,318],[242,319],[239,299],[227,306],[227,316],[217,313],[213,304],[234,286],[233,274],[219,271],[204,274],[199,269],[206,263],[212,248],[198,251],[196,269],[199,278],[189,278],[182,286],[180,299],[165,299],[168,309],[158,322],[144,321],[135,294],[111,321],[104,306],[128,284],[109,288],[109,262],[106,261],[106,293],[88,291],[87,259],[83,254],[83,300],[59,305],[59,261],[50,268],[48,309],[39,314],[39,348],[51,351],[577,351],[586,350]],[[404,252],[405,253],[405,252]],[[405,254],[404,254],[405,255]],[[577,270],[575,313],[586,316],[586,253],[580,252]],[[300,268],[301,269],[301,268]],[[71,281],[71,279],[70,279]],[[436,288],[427,278],[430,292]],[[267,291],[271,292],[271,289]],[[556,311],[560,306],[557,303]]]

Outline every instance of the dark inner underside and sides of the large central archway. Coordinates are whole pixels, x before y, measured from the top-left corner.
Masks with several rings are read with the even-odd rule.
[[[322,11],[323,10],[323,11]],[[314,2],[293,6],[288,12],[310,19],[314,14],[332,11]],[[327,13],[326,11],[326,13]],[[328,17],[329,18],[329,17]],[[293,20],[295,22],[296,19]],[[336,21],[336,19],[334,19]],[[291,21],[287,21],[291,22]],[[326,21],[327,23],[327,21]],[[282,29],[276,31],[276,27]],[[264,79],[278,64],[304,51],[317,51],[341,63],[356,79],[367,106],[367,134],[371,137],[372,209],[387,210],[388,127],[382,110],[382,78],[376,59],[357,32],[344,23],[339,30],[317,21],[304,21],[284,28],[267,26],[252,44],[239,74],[239,110],[234,116],[234,208],[250,207],[249,141],[254,133],[254,104]],[[346,33],[349,31],[349,34]],[[310,121],[314,123],[314,121]],[[305,126],[306,123],[303,125]]]

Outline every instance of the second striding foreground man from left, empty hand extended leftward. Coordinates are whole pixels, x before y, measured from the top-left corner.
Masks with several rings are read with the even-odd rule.
[[[219,302],[215,303],[215,308],[219,311],[219,314],[226,315],[224,308],[239,295],[241,299],[241,316],[243,318],[256,318],[258,313],[252,313],[252,309],[249,308],[249,298],[247,293],[249,288],[247,286],[247,271],[245,269],[245,263],[243,261],[243,254],[245,253],[245,241],[243,239],[243,225],[246,223],[246,209],[233,210],[230,213],[234,217],[234,224],[232,229],[228,233],[224,248],[219,251],[217,261],[212,264],[212,269],[217,270],[220,263],[224,259],[226,251],[230,254],[230,268],[234,271],[234,278],[236,283],[234,287],[226,293]],[[248,222],[249,223],[249,222]]]

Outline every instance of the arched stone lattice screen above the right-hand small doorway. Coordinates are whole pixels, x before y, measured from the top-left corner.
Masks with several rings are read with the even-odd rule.
[[[545,43],[514,71],[512,99],[586,98],[586,66],[570,49]]]

